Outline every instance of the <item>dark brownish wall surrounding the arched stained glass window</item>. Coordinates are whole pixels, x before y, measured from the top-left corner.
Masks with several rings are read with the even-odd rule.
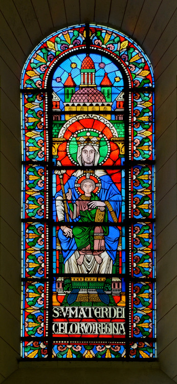
[[[66,25],[96,22],[122,30],[141,45],[156,78],[157,138],[157,303],[160,368],[177,382],[176,355],[176,1],[175,0],[1,0],[1,314],[0,383],[18,368],[20,335],[20,100],[21,69],[42,38]],[[5,382],[28,382],[33,365],[21,363]],[[26,363],[27,364],[27,363]],[[31,364],[31,362],[29,363]],[[73,364],[40,365],[43,383],[54,375],[81,372],[82,381],[94,371]],[[53,362],[52,362],[53,364]],[[148,364],[148,363],[147,363]],[[24,367],[24,368],[23,368]],[[45,368],[46,367],[46,368]],[[112,367],[112,368],[111,368]],[[129,368],[128,368],[129,367]],[[136,368],[137,367],[137,368]],[[141,366],[142,367],[142,366]],[[146,383],[172,382],[158,365],[96,366],[104,377],[134,382],[141,370]],[[152,371],[152,368],[153,371]],[[127,370],[128,369],[128,370]],[[106,375],[106,372],[108,376]],[[46,374],[45,374],[46,372]],[[87,372],[87,373],[86,373]],[[91,373],[89,373],[91,372]],[[92,373],[93,372],[93,373]],[[144,373],[143,373],[144,372]],[[36,371],[37,374],[37,371]],[[37,374],[38,375],[38,374]],[[91,375],[91,376],[90,376]],[[159,376],[158,376],[159,375]],[[36,376],[37,377],[37,376]],[[46,378],[45,378],[46,377]],[[69,376],[68,380],[69,380]],[[74,376],[73,376],[74,377]],[[86,379],[87,378],[87,379]],[[27,380],[26,380],[27,379]],[[48,381],[46,381],[48,380]],[[85,381],[84,381],[85,380]],[[159,381],[158,381],[159,380]],[[52,381],[52,380],[51,380]],[[93,379],[92,379],[93,381]],[[98,380],[99,381],[99,380]],[[147,381],[147,382],[149,382]],[[88,381],[89,382],[89,381]],[[137,381],[138,382],[138,381]],[[33,383],[35,379],[33,376]]]

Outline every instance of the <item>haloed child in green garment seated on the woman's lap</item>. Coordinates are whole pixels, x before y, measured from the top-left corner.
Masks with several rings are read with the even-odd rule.
[[[77,259],[77,264],[81,265],[84,262],[86,255],[93,255],[98,264],[102,263],[100,254],[105,250],[104,235],[108,234],[108,227],[104,224],[99,226],[96,224],[99,217],[102,217],[104,223],[108,221],[107,209],[105,203],[100,202],[99,198],[93,190],[96,184],[92,179],[84,179],[80,183],[80,189],[83,194],[73,204],[72,191],[69,188],[67,195],[68,204],[70,207],[70,215],[72,219],[79,217],[78,225],[73,227],[73,236],[79,251],[80,257]],[[99,208],[98,203],[99,201]],[[101,215],[100,215],[101,214]]]

